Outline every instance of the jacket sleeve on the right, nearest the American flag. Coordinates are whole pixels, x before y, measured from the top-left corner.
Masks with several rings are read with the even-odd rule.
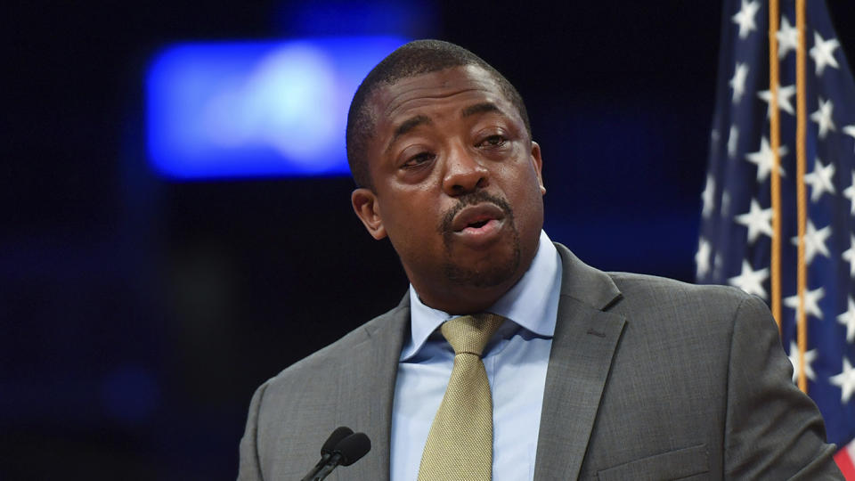
[[[759,298],[737,308],[724,437],[729,479],[843,479],[816,404],[792,382],[778,328]]]

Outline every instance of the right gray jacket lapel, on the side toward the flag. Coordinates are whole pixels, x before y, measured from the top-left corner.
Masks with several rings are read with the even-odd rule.
[[[558,322],[543,393],[534,479],[579,477],[600,397],[625,320],[604,312],[620,298],[606,273],[564,246]]]

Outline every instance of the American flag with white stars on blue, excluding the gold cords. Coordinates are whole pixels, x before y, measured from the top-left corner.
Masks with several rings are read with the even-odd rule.
[[[807,392],[826,420],[835,461],[855,479],[855,81],[825,2],[806,2],[807,222],[804,354]],[[795,2],[781,0],[778,111],[781,185],[781,340],[797,347]],[[716,111],[702,194],[697,281],[737,286],[769,302],[770,177],[769,4],[725,0]],[[794,382],[798,372],[794,374]]]

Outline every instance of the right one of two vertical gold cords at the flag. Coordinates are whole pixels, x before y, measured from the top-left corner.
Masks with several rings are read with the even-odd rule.
[[[807,96],[805,92],[805,65],[807,46],[804,37],[805,2],[795,2],[795,27],[799,31],[799,48],[795,53],[795,155],[796,155],[796,199],[799,204],[799,254],[798,254],[798,295],[799,308],[796,310],[797,338],[799,342],[799,389],[808,392],[808,379],[804,369],[804,353],[808,348],[807,314],[804,312],[804,292],[808,283],[808,266],[804,261],[804,231],[808,216],[807,192],[804,185],[804,173],[807,167]]]

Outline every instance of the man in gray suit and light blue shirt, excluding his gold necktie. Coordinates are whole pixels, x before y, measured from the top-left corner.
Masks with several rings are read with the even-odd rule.
[[[454,363],[437,328],[476,313],[504,319],[482,354],[494,479],[843,478],[760,299],[603,273],[542,232],[525,105],[473,53],[418,41],[380,62],[347,154],[354,211],[410,291],[258,388],[240,479],[302,477],[341,425],[373,447],[333,477],[415,479]]]

